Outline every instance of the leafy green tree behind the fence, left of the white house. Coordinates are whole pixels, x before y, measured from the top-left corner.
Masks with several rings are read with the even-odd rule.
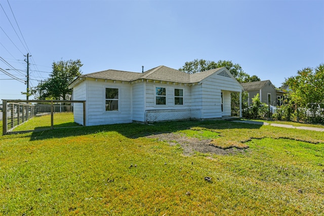
[[[50,78],[43,83],[39,83],[33,89],[33,94],[39,100],[52,99],[52,100],[68,100],[72,95],[72,90],[68,89],[68,85],[79,75],[82,63],[79,59],[73,61],[58,61],[53,62],[53,72]]]

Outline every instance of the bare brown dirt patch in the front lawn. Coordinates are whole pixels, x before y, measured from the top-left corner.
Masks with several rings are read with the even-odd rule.
[[[179,144],[183,148],[183,154],[187,156],[191,155],[195,151],[220,155],[235,154],[238,152],[246,151],[244,149],[237,148],[220,149],[211,144],[211,139],[203,140],[198,138],[190,138],[181,134],[156,134],[147,136],[147,138],[158,139],[159,141],[168,142],[171,146]]]

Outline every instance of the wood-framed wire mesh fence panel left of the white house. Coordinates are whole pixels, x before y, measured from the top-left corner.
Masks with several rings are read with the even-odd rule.
[[[86,126],[86,102],[3,100],[3,135]]]

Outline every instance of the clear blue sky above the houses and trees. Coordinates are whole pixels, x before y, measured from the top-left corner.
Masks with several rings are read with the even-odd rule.
[[[84,74],[230,60],[276,87],[298,70],[324,63],[323,0],[0,4],[0,68],[20,79],[0,70],[0,100],[26,99],[21,92],[26,92],[27,53],[30,87],[49,77],[54,61],[69,59],[80,59]],[[13,68],[18,71],[7,70]]]

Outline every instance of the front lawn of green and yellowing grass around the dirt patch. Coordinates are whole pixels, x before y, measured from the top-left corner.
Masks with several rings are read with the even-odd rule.
[[[244,144],[183,156],[145,138]],[[3,215],[322,215],[324,134],[228,121],[119,124],[0,137]],[[206,181],[211,177],[212,181]]]

